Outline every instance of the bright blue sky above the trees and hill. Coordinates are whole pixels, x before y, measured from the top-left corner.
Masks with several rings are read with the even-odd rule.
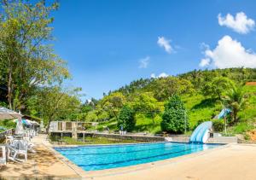
[[[233,59],[227,52],[236,51],[237,47],[241,53],[236,56],[249,57],[246,66],[256,62],[256,34],[254,24],[250,24],[250,20],[256,20],[253,0],[60,3],[60,9],[54,13],[55,52],[68,62],[73,75],[67,84],[82,87],[86,98],[100,98],[103,92],[137,78],[150,78],[152,74],[157,77],[161,73],[176,75],[199,68],[243,66],[240,59],[236,63],[223,60]],[[227,14],[235,17],[239,12],[247,17],[247,32],[241,32],[246,27],[239,29],[238,21],[234,25],[225,19]],[[164,42],[159,42],[159,38]],[[205,66],[200,67],[202,59]]]

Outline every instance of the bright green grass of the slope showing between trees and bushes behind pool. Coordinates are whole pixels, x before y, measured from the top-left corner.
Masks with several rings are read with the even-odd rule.
[[[247,106],[239,113],[239,122],[229,127],[229,134],[246,134],[247,131],[256,128],[256,86],[244,86],[244,90],[249,95]],[[202,95],[182,96],[182,100],[189,114],[190,131],[188,133],[192,132],[199,120],[210,120],[222,109],[220,102],[210,98],[206,99]],[[154,119],[139,113],[136,115],[136,119],[137,124],[134,132],[160,133],[161,113]],[[104,127],[108,126],[111,131],[118,131],[116,123],[115,119],[111,119],[97,125],[97,129],[102,131]]]

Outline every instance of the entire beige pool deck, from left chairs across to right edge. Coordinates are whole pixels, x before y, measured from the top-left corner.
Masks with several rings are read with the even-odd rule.
[[[39,177],[55,179],[256,179],[256,145],[229,144],[195,154],[143,165],[83,171],[51,148],[45,136],[33,141],[38,154],[29,156],[26,164],[9,163],[0,177]]]

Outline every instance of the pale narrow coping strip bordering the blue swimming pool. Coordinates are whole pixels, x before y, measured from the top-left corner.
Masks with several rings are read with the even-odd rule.
[[[160,142],[138,142],[138,143],[160,143]],[[189,143],[189,142],[180,142],[180,143]],[[119,144],[90,144],[90,145],[58,145],[55,146],[51,144],[50,142],[46,142],[44,146],[46,146],[51,152],[55,154],[55,156],[64,162],[66,165],[68,165],[70,168],[75,171],[79,177],[81,178],[94,178],[94,177],[109,177],[109,176],[114,176],[114,175],[119,175],[119,174],[124,174],[124,173],[129,173],[132,171],[142,171],[146,169],[151,169],[154,168],[155,166],[160,166],[160,165],[170,165],[170,164],[175,164],[180,160],[189,160],[191,158],[195,158],[200,155],[204,154],[209,154],[214,150],[222,149],[222,148],[228,148],[232,145],[232,143],[207,143],[207,144],[222,144],[222,146],[219,146],[217,148],[210,148],[207,150],[203,150],[200,152],[196,152],[193,154],[186,154],[182,156],[178,156],[175,158],[171,159],[166,159],[166,160],[157,160],[153,162],[148,162],[148,163],[143,163],[139,165],[129,165],[125,167],[117,167],[117,168],[111,168],[111,169],[106,169],[106,170],[98,170],[98,171],[85,171],[79,165],[74,164],[71,160],[68,160],[67,157],[59,153],[58,151],[55,150],[55,148],[75,148],[75,147],[86,147],[86,146],[108,146],[108,145],[124,145],[124,144],[137,144],[137,143],[119,143]]]

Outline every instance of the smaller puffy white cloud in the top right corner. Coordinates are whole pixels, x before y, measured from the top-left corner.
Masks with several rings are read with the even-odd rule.
[[[218,24],[220,26],[230,27],[235,32],[241,34],[247,34],[255,26],[254,20],[247,18],[247,15],[243,12],[237,13],[236,17],[230,14],[222,17],[221,14],[218,14]]]

